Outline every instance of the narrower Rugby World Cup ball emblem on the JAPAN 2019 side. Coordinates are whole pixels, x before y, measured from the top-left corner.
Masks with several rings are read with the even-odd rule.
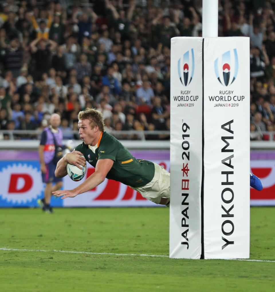
[[[194,75],[194,69],[195,69],[194,49],[191,49],[184,53],[182,62],[181,58],[179,58],[178,60],[178,74],[179,80],[181,81],[182,85],[187,86],[191,82]]]

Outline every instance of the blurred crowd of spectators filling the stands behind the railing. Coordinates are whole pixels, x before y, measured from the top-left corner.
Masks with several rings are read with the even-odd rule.
[[[274,139],[274,11],[219,1],[218,35],[250,37],[251,140]],[[0,130],[42,130],[58,113],[78,139],[77,114],[93,107],[109,132],[169,131],[170,39],[201,35],[202,0],[0,1]]]

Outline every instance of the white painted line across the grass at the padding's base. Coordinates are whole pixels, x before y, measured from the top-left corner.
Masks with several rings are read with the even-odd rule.
[[[147,255],[147,254],[137,254],[137,253],[92,253],[89,251],[58,251],[58,250],[43,250],[43,249],[19,249],[19,248],[6,248],[6,247],[0,247],[1,251],[39,251],[39,252],[56,252],[56,253],[84,253],[89,255],[109,255],[109,256],[151,256],[156,258],[169,258],[169,256],[165,255]],[[269,262],[269,263],[275,263],[275,260],[248,260],[248,259],[238,259],[238,258],[230,258],[228,260],[241,260],[246,262]]]

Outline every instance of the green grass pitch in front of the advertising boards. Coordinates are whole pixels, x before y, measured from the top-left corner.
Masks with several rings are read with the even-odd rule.
[[[251,208],[261,261],[168,258],[168,208],[55,211],[0,209],[0,291],[275,291],[275,208]]]

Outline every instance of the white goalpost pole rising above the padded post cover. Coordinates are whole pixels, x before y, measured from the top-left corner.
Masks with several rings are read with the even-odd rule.
[[[218,0],[203,0],[203,37],[218,36]]]

